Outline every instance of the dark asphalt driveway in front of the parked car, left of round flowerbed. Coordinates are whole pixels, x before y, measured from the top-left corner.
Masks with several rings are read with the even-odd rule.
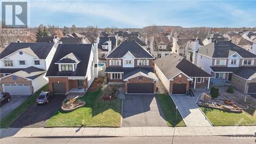
[[[60,108],[65,95],[54,95],[48,104],[37,105],[34,103],[27,111],[18,117],[11,125],[12,128],[41,128]]]

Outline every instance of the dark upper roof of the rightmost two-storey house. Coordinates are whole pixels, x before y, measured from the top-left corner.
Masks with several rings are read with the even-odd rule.
[[[212,57],[212,58],[228,58],[230,51],[237,52],[244,58],[256,58],[256,55],[229,42],[229,41],[216,41],[206,46],[200,47],[198,53]]]

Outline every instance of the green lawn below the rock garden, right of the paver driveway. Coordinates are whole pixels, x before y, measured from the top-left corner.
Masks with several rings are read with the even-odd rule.
[[[230,113],[217,109],[200,107],[213,126],[252,126],[256,125],[255,118],[247,112]]]

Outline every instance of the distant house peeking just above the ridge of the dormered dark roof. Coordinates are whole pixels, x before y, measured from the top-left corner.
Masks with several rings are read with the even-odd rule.
[[[91,44],[87,38],[83,38],[83,37],[61,37],[58,43],[60,44]]]

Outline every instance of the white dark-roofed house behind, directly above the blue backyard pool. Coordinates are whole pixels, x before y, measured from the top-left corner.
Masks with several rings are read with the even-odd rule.
[[[116,37],[99,37],[99,58],[104,58],[117,46]]]

